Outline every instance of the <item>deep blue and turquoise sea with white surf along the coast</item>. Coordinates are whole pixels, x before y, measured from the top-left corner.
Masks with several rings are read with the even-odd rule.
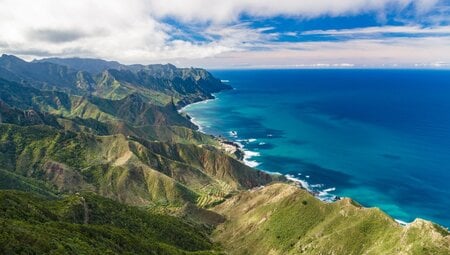
[[[246,162],[322,199],[450,226],[450,71],[221,70],[235,89],[184,109]]]

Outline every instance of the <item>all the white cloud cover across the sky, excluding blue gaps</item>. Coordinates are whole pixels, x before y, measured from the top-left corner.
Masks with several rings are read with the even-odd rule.
[[[346,42],[276,42],[273,28],[251,28],[239,15],[349,15],[364,11],[404,8],[414,4],[421,12],[436,0],[0,0],[0,52],[26,59],[47,56],[99,57],[125,63],[173,62],[205,67],[302,66],[372,63],[448,63],[449,27],[424,29],[373,27],[354,30],[309,31],[310,34],[425,33],[426,38],[387,38]],[[173,16],[202,22],[196,41],[161,21]],[[203,23],[203,21],[207,21]],[[192,23],[185,23],[190,26]],[[198,24],[197,24],[198,25]],[[183,36],[184,33],[184,36]],[[181,35],[174,39],[174,35]],[[181,38],[181,39],[180,39]],[[193,37],[192,37],[193,38]],[[414,52],[414,54],[411,54]]]

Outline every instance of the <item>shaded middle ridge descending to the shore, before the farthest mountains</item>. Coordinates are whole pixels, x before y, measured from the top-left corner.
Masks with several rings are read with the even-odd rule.
[[[151,105],[139,95],[118,101],[69,96],[0,79],[1,122],[61,125],[76,132],[121,133],[162,142],[217,144],[211,136],[192,130],[193,124],[179,115],[173,105]]]

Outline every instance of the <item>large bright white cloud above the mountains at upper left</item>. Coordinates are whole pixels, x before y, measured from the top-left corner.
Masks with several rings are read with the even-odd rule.
[[[85,56],[126,63],[202,58],[261,40],[245,25],[214,26],[217,40],[173,40],[176,28],[152,17],[144,0],[0,0],[0,52],[26,59]]]

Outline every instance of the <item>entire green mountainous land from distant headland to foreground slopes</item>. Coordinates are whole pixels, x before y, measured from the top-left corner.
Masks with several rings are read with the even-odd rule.
[[[0,253],[450,253],[430,222],[270,185],[286,180],[178,112],[229,88],[170,64],[3,55]]]

